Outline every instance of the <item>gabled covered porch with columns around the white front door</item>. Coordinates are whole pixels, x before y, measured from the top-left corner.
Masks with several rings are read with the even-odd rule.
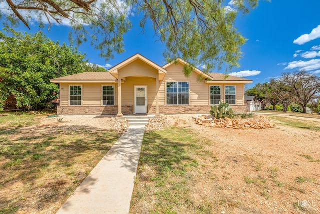
[[[109,69],[117,79],[117,117],[122,117],[122,106],[132,105],[133,114],[146,114],[148,106],[155,105],[159,116],[159,81],[166,70],[140,54],[126,59]]]

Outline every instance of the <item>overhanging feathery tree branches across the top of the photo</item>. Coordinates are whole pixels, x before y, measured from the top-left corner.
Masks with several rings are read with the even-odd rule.
[[[4,2],[4,0],[0,0]],[[6,21],[30,28],[32,18],[40,23],[64,23],[72,27],[76,44],[90,40],[109,59],[124,51],[122,35],[131,27],[129,15],[142,14],[140,26],[151,21],[155,36],[165,44],[167,61],[181,57],[190,65],[205,65],[206,71],[222,65],[238,66],[245,39],[234,28],[239,12],[248,13],[258,0],[232,0],[233,8],[220,0],[5,0],[1,9]],[[34,18],[34,15],[37,17]],[[12,18],[13,17],[13,18]],[[42,25],[43,26],[43,25]],[[142,30],[143,31],[143,30]],[[185,68],[186,75],[189,68]]]

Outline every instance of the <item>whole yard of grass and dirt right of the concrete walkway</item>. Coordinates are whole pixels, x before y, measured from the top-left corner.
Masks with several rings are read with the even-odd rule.
[[[319,121],[238,130],[170,118],[144,134],[129,213],[320,213]]]

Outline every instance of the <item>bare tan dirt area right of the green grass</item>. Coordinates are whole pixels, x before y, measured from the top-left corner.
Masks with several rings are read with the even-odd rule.
[[[194,201],[210,204],[208,213],[320,213],[319,119],[306,119],[314,129],[273,119],[273,128],[240,130],[198,125],[192,116],[163,116],[147,130],[162,121],[161,128],[188,127],[210,140],[203,149],[214,155],[194,156],[201,169],[189,185]]]

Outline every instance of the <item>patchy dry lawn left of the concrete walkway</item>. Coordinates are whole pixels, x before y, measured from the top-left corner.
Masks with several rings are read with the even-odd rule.
[[[0,116],[0,213],[55,213],[121,134],[43,118]]]

